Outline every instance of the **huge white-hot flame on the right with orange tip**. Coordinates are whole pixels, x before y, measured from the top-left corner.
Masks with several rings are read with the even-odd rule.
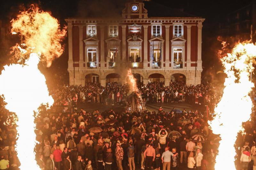
[[[223,96],[214,110],[216,116],[211,122],[209,121],[213,133],[220,134],[221,137],[219,154],[216,157],[216,170],[236,169],[234,144],[237,133],[243,131],[242,122],[249,120],[252,112],[249,93],[254,85],[249,77],[254,69],[252,63],[255,57],[254,44],[239,43],[233,48],[232,53],[221,59],[227,78]]]

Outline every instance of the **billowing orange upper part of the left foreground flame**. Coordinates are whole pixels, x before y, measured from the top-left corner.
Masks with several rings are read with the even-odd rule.
[[[31,5],[28,11],[21,11],[16,19],[12,19],[12,34],[19,33],[25,45],[16,46],[26,50],[19,53],[16,51],[15,57],[28,56],[30,53],[41,55],[41,61],[50,67],[55,58],[60,57],[63,48],[60,42],[66,35],[66,29],[60,30],[60,24],[49,12],[40,11],[38,7]]]

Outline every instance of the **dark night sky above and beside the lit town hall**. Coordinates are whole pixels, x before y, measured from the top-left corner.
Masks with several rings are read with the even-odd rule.
[[[44,11],[51,11],[53,17],[60,20],[61,26],[66,23],[65,18],[69,17],[92,17],[92,16],[117,16],[121,14],[124,9],[126,0],[0,0],[1,10],[0,19],[3,20],[4,25],[8,28],[10,20],[15,18],[20,10],[27,8],[30,4],[37,4]],[[189,14],[206,18],[203,23],[203,37],[202,37],[202,60],[204,72],[209,68],[216,67],[218,58],[216,51],[221,47],[218,44],[217,32],[218,23],[222,18],[243,6],[246,6],[252,0],[151,0],[155,3],[165,5],[173,9],[184,9],[184,12]],[[207,2],[207,3],[206,3]],[[8,31],[8,30],[7,30]],[[7,37],[8,38],[8,37]],[[12,42],[12,41],[10,41]],[[67,49],[67,39],[63,42]],[[63,55],[54,61],[51,69],[59,69],[63,73],[67,73],[68,67],[68,52],[65,50]],[[220,64],[219,64],[220,65]],[[220,68],[217,68],[217,70]],[[216,72],[216,70],[215,70]]]

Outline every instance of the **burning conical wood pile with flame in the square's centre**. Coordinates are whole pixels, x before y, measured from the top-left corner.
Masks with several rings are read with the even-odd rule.
[[[126,112],[143,112],[146,110],[146,107],[143,103],[143,100],[140,96],[140,91],[136,85],[136,79],[132,75],[132,70],[128,70],[128,84],[130,84],[131,95],[128,98],[127,105],[125,107]]]

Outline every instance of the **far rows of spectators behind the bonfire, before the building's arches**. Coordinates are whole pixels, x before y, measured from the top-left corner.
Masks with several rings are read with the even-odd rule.
[[[214,89],[209,83],[195,86],[171,82],[170,86],[165,86],[163,82],[153,82],[147,85],[138,83],[138,87],[145,103],[188,102],[215,106],[220,99],[220,90]],[[85,102],[114,105],[125,103],[129,88],[127,84],[121,85],[116,82],[107,83],[106,87],[98,83],[88,83],[84,86],[58,86],[51,93],[54,105],[76,105]]]

